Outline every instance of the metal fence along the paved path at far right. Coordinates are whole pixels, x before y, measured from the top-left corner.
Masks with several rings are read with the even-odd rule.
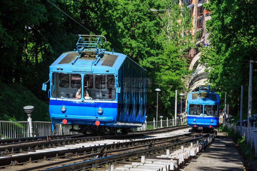
[[[255,155],[257,155],[257,127],[255,127],[255,123],[256,122],[254,122],[253,126],[250,126],[249,128],[244,125],[241,129],[239,126],[235,126],[227,122],[223,122],[223,126],[226,126],[228,129],[234,130],[235,133],[244,136],[245,141],[251,144],[251,148],[255,150]]]

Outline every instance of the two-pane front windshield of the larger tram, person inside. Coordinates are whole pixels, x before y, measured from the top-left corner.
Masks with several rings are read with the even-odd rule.
[[[51,95],[53,98],[85,100],[114,100],[115,78],[113,74],[52,73]]]

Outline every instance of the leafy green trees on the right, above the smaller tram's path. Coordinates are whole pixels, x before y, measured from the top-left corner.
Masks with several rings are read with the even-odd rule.
[[[211,20],[206,22],[210,32],[210,47],[202,49],[201,63],[208,68],[209,83],[227,103],[239,110],[241,85],[244,87],[244,112],[247,113],[249,61],[257,55],[257,3],[254,0],[209,0],[204,4],[210,10]],[[257,87],[256,64],[253,64],[253,102]],[[253,113],[256,103],[253,103]]]

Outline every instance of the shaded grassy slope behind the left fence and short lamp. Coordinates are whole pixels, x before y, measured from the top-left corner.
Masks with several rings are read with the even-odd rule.
[[[50,121],[48,104],[39,100],[35,95],[20,84],[4,84],[0,82],[0,120],[27,121],[25,106],[34,106],[31,114],[33,121]]]

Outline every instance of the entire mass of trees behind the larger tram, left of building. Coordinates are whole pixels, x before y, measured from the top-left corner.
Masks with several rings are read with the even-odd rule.
[[[155,11],[149,9],[172,10]],[[106,50],[124,53],[148,70],[148,113],[174,114],[175,90],[184,92],[194,45],[186,6],[154,0],[3,0],[0,7],[1,82],[20,83],[40,99],[48,67],[76,47],[78,34],[103,35]]]

